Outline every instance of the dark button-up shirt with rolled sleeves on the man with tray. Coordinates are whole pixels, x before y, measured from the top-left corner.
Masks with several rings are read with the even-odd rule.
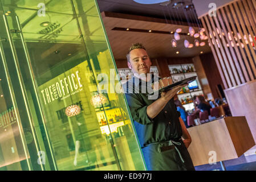
[[[147,86],[151,87],[152,80],[148,81]],[[180,139],[182,136],[182,129],[178,119],[180,113],[174,105],[173,98],[155,118],[151,119],[147,115],[147,107],[156,101],[157,98],[160,98],[161,95],[159,93],[156,99],[149,100],[147,89],[146,93],[141,93],[143,88],[141,85],[144,84],[145,81],[140,79],[136,81],[135,77],[132,77],[131,80],[123,85],[141,147],[155,142]],[[139,90],[139,93],[135,93],[136,89],[137,91]],[[131,90],[133,93],[129,93]]]

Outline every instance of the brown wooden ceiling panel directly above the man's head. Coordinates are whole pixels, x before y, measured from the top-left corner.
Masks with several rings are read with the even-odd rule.
[[[173,48],[171,46],[171,40],[173,35],[171,34],[155,34],[149,32],[132,32],[132,31],[117,31],[112,30],[115,27],[122,28],[137,28],[141,30],[157,30],[157,31],[175,31],[176,28],[182,28],[182,32],[188,33],[188,26],[182,26],[177,24],[164,23],[162,20],[147,17],[146,20],[141,20],[141,16],[137,20],[127,19],[122,17],[121,14],[116,14],[116,17],[113,17],[115,13],[111,13],[111,16],[108,16],[106,13],[101,13],[103,17],[103,22],[105,30],[108,35],[109,43],[112,48],[113,55],[116,60],[125,59],[128,48],[133,43],[143,43],[145,48],[149,53],[149,56],[154,57],[193,57],[200,55],[200,52],[210,52],[210,47],[208,46],[208,41],[204,40],[206,46],[204,47],[193,47],[185,48],[184,40],[187,39],[190,43],[194,43],[194,38],[181,35],[180,40],[177,41],[178,46]],[[127,15],[125,15],[127,17]],[[198,30],[198,27],[194,27],[195,30]],[[200,39],[198,39],[200,40]],[[201,42],[201,40],[200,40]],[[176,52],[179,51],[179,54]]]

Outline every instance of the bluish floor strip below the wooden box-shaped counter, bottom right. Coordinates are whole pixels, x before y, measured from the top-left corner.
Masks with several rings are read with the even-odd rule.
[[[256,154],[249,156],[240,156],[237,159],[225,160],[224,166],[227,171],[256,171]],[[222,170],[220,162],[217,164],[205,164],[196,166],[196,171]]]

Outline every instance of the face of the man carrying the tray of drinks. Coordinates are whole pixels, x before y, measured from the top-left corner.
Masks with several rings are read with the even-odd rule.
[[[148,57],[147,51],[144,49],[133,49],[130,52],[130,61],[128,67],[132,69],[133,74],[150,73],[151,60]]]

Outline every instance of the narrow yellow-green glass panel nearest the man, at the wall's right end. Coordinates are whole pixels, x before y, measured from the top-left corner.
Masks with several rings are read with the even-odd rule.
[[[110,136],[115,143],[115,150],[122,170],[144,170],[145,165],[141,155],[136,133],[131,122],[127,102],[121,92],[120,78],[113,55],[105,40],[105,31],[96,1],[75,1],[79,25],[82,29],[84,42],[92,63],[92,70],[99,85],[99,92],[105,93],[109,104],[97,113],[105,113],[105,120],[109,124]],[[90,14],[89,14],[90,12]],[[98,16],[95,16],[98,15]],[[97,38],[97,39],[95,39]],[[100,122],[101,118],[98,117]],[[107,126],[101,126],[101,133]],[[108,135],[108,133],[106,133]]]

